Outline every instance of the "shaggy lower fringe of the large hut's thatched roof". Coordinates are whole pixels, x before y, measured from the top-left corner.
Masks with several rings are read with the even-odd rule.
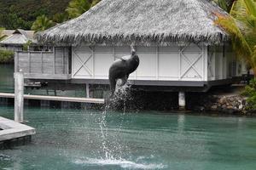
[[[43,42],[44,44],[67,44],[67,45],[79,45],[81,43],[97,44],[106,43],[106,45],[113,44],[143,44],[150,45],[154,44],[172,44],[173,42],[205,42],[207,44],[220,44],[222,42],[228,41],[230,38],[227,34],[223,32],[218,33],[207,33],[204,36],[201,35],[188,35],[188,34],[178,34],[178,35],[165,35],[165,34],[153,34],[153,35],[102,35],[102,34],[86,34],[86,35],[49,35],[49,34],[36,34],[35,36],[38,42]]]

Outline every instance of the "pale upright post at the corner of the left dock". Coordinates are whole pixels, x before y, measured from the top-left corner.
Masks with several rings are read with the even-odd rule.
[[[24,107],[24,75],[15,72],[15,122],[23,122]]]

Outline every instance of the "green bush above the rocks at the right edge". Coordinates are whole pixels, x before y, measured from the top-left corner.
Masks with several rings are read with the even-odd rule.
[[[256,79],[250,81],[249,85],[245,87],[242,92],[242,95],[248,97],[247,99],[247,109],[248,110],[256,110]]]

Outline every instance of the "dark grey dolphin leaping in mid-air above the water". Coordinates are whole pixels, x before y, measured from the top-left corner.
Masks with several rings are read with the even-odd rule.
[[[113,62],[108,71],[108,80],[112,96],[115,91],[117,80],[121,79],[122,83],[120,86],[124,86],[127,82],[129,75],[133,71],[137,70],[139,63],[140,59],[138,58],[135,49],[132,47],[131,56],[124,56],[121,59],[117,59]]]

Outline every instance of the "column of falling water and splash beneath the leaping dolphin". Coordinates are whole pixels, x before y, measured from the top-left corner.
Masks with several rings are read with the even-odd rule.
[[[115,92],[115,97],[112,99],[111,105],[120,105],[122,107],[122,114],[119,115],[119,125],[117,133],[113,136],[108,136],[108,109],[109,105],[106,105],[102,115],[100,116],[99,126],[101,128],[101,139],[102,139],[102,156],[100,159],[96,158],[85,158],[78,159],[75,161],[77,164],[86,164],[86,165],[97,165],[97,166],[119,166],[122,168],[132,168],[132,169],[162,169],[166,166],[163,164],[152,164],[144,163],[147,162],[144,160],[144,156],[139,156],[136,161],[130,161],[124,159],[129,155],[129,149],[126,144],[121,142],[121,130],[123,129],[123,124],[125,122],[125,111],[126,111],[126,102],[128,99],[131,99],[131,85],[125,84],[124,86],[117,86]],[[124,151],[125,150],[125,151]]]

